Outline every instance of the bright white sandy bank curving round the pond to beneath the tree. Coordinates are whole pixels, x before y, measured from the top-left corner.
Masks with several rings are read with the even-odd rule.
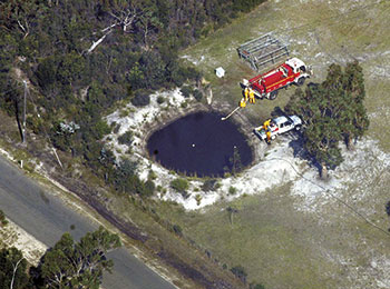
[[[179,104],[185,101],[178,90],[156,92],[150,97],[149,106],[136,110],[129,103],[126,106],[126,109],[130,111],[128,116],[120,117],[123,113],[116,111],[107,117],[108,124],[114,121],[120,123],[118,133],[111,133],[107,138],[109,147],[114,149],[117,158],[126,157],[125,151],[127,151],[127,146],[119,144],[117,137],[125,133],[128,129],[131,129],[135,134],[143,136],[145,131],[144,126],[159,117],[162,107],[167,108],[169,106],[167,103],[163,106],[157,104],[156,99],[158,96],[163,96],[166,99],[169,98],[169,109],[173,110],[178,109]],[[186,210],[204,208],[222,198],[231,200],[244,193],[261,193],[273,186],[293,181],[292,195],[303,197],[303,201],[296,205],[296,209],[313,211],[323,202],[334,201],[330,193],[335,196],[341,193],[342,189],[347,188],[351,181],[359,180],[361,186],[355,198],[362,198],[363,195],[369,193],[365,188],[372,181],[370,178],[372,171],[382,171],[390,166],[390,156],[379,149],[377,141],[364,138],[357,143],[354,151],[343,150],[345,161],[334,171],[330,171],[331,177],[328,181],[322,181],[318,178],[315,168],[309,166],[306,161],[294,157],[293,148],[289,144],[292,140],[293,137],[291,136],[280,137],[270,148],[266,148],[263,142],[259,141],[259,146],[255,149],[260,151],[260,156],[264,156],[260,162],[244,170],[237,177],[221,179],[221,187],[216,191],[202,191],[203,181],[192,180],[188,198],[182,197],[181,193],[169,188],[169,182],[178,176],[145,158],[143,156],[144,152],[142,152],[143,148],[133,146],[135,152],[133,158],[139,162],[138,173],[143,180],[146,180],[149,170],[153,170],[158,176],[155,180],[156,186],[167,189],[166,193],[158,193],[158,198],[181,203]],[[139,138],[136,137],[134,142],[139,142]],[[266,152],[264,153],[264,151]],[[228,195],[228,189],[232,186],[236,188],[234,196]],[[196,199],[199,198],[201,201],[198,202]]]

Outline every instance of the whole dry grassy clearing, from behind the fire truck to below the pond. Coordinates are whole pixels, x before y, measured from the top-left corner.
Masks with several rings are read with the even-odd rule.
[[[368,136],[379,140],[380,148],[389,152],[390,38],[386,37],[389,12],[389,1],[269,1],[183,54],[205,72],[215,100],[232,108],[241,97],[238,81],[256,74],[238,59],[235,49],[262,33],[274,31],[287,41],[292,56],[313,66],[313,81],[322,81],[332,62],[359,59],[365,74],[371,120]],[[215,77],[218,66],[226,69],[226,78]],[[250,126],[257,124],[274,107],[283,107],[293,91],[290,88],[276,101],[263,100],[240,113],[248,116]],[[390,176],[386,169],[376,168],[374,162],[367,166],[360,176],[367,181],[352,181],[340,193],[344,201],[386,229],[390,227],[384,212]],[[227,268],[241,265],[250,281],[267,288],[390,287],[386,235],[332,199],[320,203],[313,212],[298,211],[300,202],[286,186],[262,196],[220,203],[203,212],[184,213],[162,206],[159,213],[178,223],[187,238],[207,248],[221,265]],[[230,206],[238,209],[233,225],[226,211]]]

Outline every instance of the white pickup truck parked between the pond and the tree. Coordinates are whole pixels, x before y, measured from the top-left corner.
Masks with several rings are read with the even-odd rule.
[[[302,120],[298,116],[283,116],[271,120],[269,129],[271,131],[271,139],[275,139],[277,134],[300,130],[302,128]],[[253,132],[262,140],[266,139],[266,131],[264,126],[260,126]]]

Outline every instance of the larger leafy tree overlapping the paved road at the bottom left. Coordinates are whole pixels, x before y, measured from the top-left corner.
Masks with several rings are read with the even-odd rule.
[[[103,227],[88,232],[79,242],[65,233],[38,267],[43,288],[98,289],[103,272],[110,271],[114,266],[106,253],[119,246],[119,237]]]

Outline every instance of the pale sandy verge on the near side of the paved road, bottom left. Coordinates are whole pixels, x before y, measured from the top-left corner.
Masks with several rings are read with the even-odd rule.
[[[0,227],[1,242],[7,247],[16,247],[22,251],[23,257],[29,263],[37,266],[48,247],[11,220],[8,219],[8,221],[9,223],[7,226]]]

